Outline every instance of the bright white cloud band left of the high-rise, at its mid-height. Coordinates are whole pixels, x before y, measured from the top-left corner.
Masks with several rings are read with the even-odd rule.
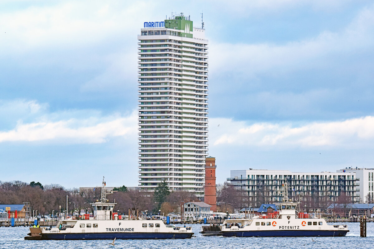
[[[18,122],[11,130],[0,131],[0,143],[6,141],[47,141],[49,143],[105,143],[113,137],[136,137],[137,112],[123,116],[118,113],[101,116],[92,110],[65,110],[49,113],[47,104],[35,100],[14,100],[0,105],[1,110],[12,103],[13,111],[18,112]],[[33,116],[33,121],[24,122]]]

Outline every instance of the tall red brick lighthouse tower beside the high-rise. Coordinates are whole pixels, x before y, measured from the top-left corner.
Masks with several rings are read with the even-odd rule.
[[[211,211],[217,212],[217,196],[215,188],[215,158],[205,158],[205,187],[204,202],[211,205]]]

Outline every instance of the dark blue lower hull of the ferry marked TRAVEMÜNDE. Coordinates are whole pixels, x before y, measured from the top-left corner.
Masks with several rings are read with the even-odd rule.
[[[193,233],[59,233],[42,234],[35,240],[190,239]],[[31,237],[31,236],[30,236]],[[25,239],[32,240],[30,237]]]

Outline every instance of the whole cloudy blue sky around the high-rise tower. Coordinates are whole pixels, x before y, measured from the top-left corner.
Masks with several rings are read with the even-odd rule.
[[[217,183],[374,167],[373,1],[3,0],[0,181],[137,186],[137,35],[172,12],[203,13]]]

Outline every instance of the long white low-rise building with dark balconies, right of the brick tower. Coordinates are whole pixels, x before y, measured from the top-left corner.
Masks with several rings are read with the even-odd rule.
[[[355,172],[304,173],[288,170],[232,170],[229,184],[244,192],[249,206],[281,201],[282,184],[287,183],[289,197],[303,202],[305,211],[326,210],[339,196],[346,202],[359,202],[359,178]]]

